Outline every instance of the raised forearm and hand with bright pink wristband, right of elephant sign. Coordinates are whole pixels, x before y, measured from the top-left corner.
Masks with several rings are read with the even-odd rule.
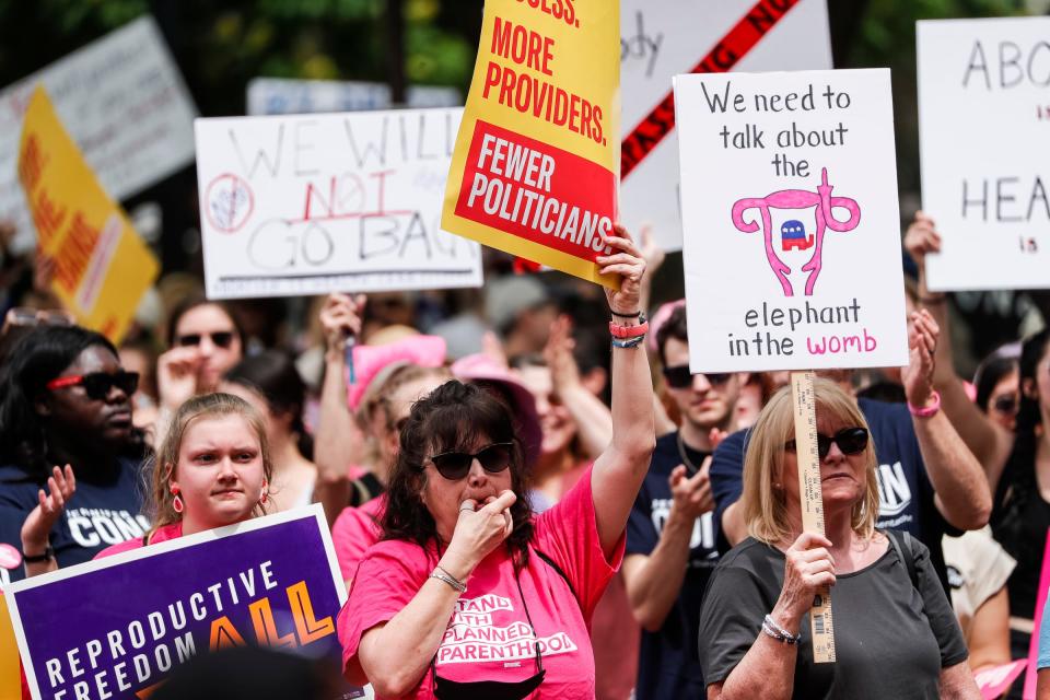
[[[919,450],[936,492],[937,510],[959,529],[979,529],[992,514],[992,494],[977,457],[944,411],[935,410],[933,358],[940,332],[929,312],[912,314],[910,358],[901,376]]]

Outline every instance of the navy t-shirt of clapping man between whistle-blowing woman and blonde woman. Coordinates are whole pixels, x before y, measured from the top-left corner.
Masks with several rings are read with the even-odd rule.
[[[686,456],[699,467],[708,454],[687,446]],[[679,464],[684,460],[678,452],[678,433],[657,440],[649,474],[627,523],[626,556],[648,556],[656,548],[674,501],[668,479]],[[642,630],[635,686],[638,700],[705,697],[697,634],[703,592],[719,563],[715,535],[712,513],[697,518],[678,599],[658,632]]]

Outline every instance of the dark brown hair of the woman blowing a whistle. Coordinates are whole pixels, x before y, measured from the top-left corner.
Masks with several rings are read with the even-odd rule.
[[[445,382],[412,405],[390,474],[382,518],[383,539],[413,541],[421,547],[438,542],[436,524],[420,497],[427,486],[423,465],[428,455],[472,450],[478,435],[514,445],[511,451],[511,489],[517,500],[511,506],[514,532],[505,545],[517,569],[528,563],[533,508],[528,499],[524,451],[514,433],[513,419],[503,402],[490,393],[457,380]]]

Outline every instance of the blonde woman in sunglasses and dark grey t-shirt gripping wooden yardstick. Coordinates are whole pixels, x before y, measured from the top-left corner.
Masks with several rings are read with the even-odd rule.
[[[708,698],[979,699],[930,552],[876,530],[875,450],[856,402],[815,382],[826,537],[803,532],[791,388],[762,409],[744,465],[749,537],[722,558],[700,620]],[[836,662],[813,658],[809,608],[833,586]]]

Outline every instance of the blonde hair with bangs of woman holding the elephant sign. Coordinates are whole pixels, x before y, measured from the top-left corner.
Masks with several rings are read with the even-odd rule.
[[[847,425],[867,428],[867,421],[856,400],[835,382],[814,380],[817,410],[830,415]],[[783,491],[773,488],[773,481],[784,466],[784,443],[795,435],[795,415],[792,409],[791,386],[785,386],[769,399],[750,431],[747,455],[744,458],[744,494],[740,497],[747,533],[767,545],[788,540],[792,533],[788,504]],[[878,477],[875,474],[875,445],[868,439],[863,452],[865,463],[864,497],[853,505],[850,525],[860,537],[867,539],[875,532],[878,516]]]

